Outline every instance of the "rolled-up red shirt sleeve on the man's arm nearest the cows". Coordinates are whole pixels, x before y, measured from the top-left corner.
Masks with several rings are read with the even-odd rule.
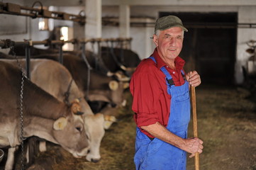
[[[130,92],[133,95],[132,110],[135,112],[134,118],[138,127],[159,122],[156,105],[160,91],[155,76],[136,72],[130,81]]]

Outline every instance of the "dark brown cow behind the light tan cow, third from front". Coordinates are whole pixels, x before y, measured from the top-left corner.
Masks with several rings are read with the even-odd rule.
[[[38,55],[34,57],[58,60],[58,55]],[[118,79],[113,77],[106,77],[105,74],[97,72],[95,69],[89,71],[84,60],[75,55],[63,55],[63,65],[72,74],[79,89],[88,96],[87,100],[104,101],[116,106],[122,106],[123,102],[125,102],[123,98],[123,87],[128,84],[127,82],[118,81]],[[88,82],[89,91],[87,91]]]

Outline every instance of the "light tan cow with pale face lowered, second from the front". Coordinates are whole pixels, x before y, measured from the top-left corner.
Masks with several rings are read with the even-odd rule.
[[[1,61],[17,64],[16,60]],[[19,60],[19,62],[24,68],[26,61]],[[108,120],[104,120],[104,115],[101,113],[94,115],[84,99],[84,94],[78,89],[69,71],[62,64],[52,60],[31,59],[30,80],[60,101],[74,101],[79,98],[81,111],[84,113],[84,128],[89,132],[90,148],[87,160],[89,162],[98,162],[101,158],[99,149],[105,133],[104,128],[107,128],[104,125]],[[46,149],[45,142],[43,145],[40,142],[40,148],[40,151]]]

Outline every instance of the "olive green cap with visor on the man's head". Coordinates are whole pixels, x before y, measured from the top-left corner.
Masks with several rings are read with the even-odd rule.
[[[158,18],[155,22],[155,33],[157,30],[166,30],[172,27],[180,27],[184,31],[188,32],[187,28],[183,26],[182,20],[177,16],[163,16]]]

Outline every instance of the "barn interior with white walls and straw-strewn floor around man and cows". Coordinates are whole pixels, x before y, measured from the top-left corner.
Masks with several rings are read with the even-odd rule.
[[[108,53],[101,47],[123,48],[143,60],[155,49],[150,38],[156,19],[178,16],[189,30],[184,34],[179,56],[186,61],[185,71],[196,70],[202,81],[196,88],[199,137],[204,139],[205,147],[200,156],[201,169],[256,169],[255,0],[2,0],[0,6],[0,52],[15,58],[11,49],[21,47],[27,60],[27,77],[33,48],[55,50],[50,54],[54,53],[61,64],[65,62],[65,52],[82,50],[80,57],[84,57],[85,48],[99,60],[94,64],[100,67],[102,61],[106,63],[104,56]],[[127,56],[125,50],[116,55]],[[18,51],[16,55],[19,56]],[[127,60],[134,63],[135,59],[128,55]],[[107,62],[107,71],[116,72],[111,66],[113,61]],[[128,83],[130,72],[122,69],[122,73]],[[91,79],[96,78],[92,75]],[[97,91],[97,85],[90,88]],[[126,106],[122,107],[112,107],[121,103],[116,98],[118,104],[106,96],[95,104],[93,98],[99,94],[86,96],[91,107],[96,105],[91,108],[94,113],[111,103],[115,110],[109,109],[106,114],[118,120],[105,132],[99,162],[76,159],[49,142],[50,150],[37,152],[33,164],[26,169],[134,169],[132,97],[128,88],[121,93],[126,99]],[[0,169],[4,169],[7,159],[7,150],[3,149]],[[22,167],[20,152],[16,155],[16,169]],[[187,169],[194,169],[193,159],[188,159]]]

